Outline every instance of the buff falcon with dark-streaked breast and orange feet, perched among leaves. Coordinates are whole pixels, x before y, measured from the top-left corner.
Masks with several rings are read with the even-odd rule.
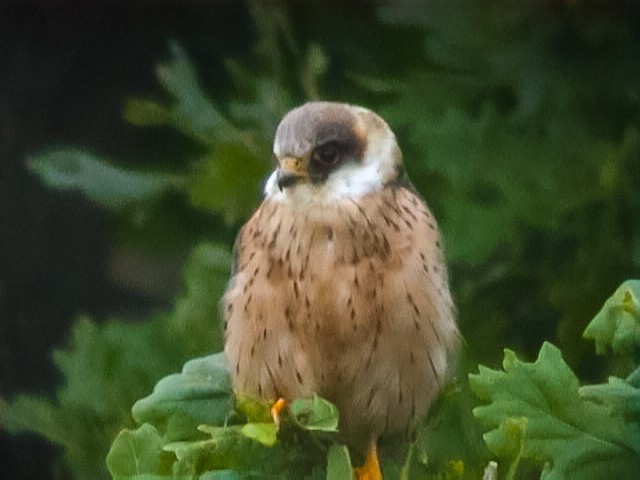
[[[233,389],[334,403],[340,441],[363,464],[356,478],[381,479],[378,439],[411,435],[455,363],[438,225],[372,110],[294,108],[273,158],[221,301]]]

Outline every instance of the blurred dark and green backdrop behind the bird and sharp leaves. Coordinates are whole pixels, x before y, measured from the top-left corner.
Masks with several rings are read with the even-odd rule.
[[[80,3],[0,7],[7,478],[105,476],[133,401],[220,348],[235,233],[308,99],[396,132],[465,365],[549,340],[602,380],[582,331],[640,276],[637,2]]]

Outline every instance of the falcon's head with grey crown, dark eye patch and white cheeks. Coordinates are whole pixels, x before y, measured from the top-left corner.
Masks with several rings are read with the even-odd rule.
[[[330,203],[395,180],[402,155],[387,123],[370,110],[310,102],[287,113],[273,144],[278,167],[265,187],[279,201]]]

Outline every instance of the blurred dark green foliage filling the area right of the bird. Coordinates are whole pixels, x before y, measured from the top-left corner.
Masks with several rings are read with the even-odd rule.
[[[465,333],[529,355],[557,336],[586,365],[584,320],[640,269],[638,31],[586,4],[474,3],[385,7],[424,29],[424,62],[355,78],[436,210]],[[471,348],[497,361],[485,345]]]

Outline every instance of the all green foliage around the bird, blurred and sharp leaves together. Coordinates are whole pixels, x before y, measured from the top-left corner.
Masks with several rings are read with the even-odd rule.
[[[277,430],[264,405],[232,398],[220,357],[189,361],[220,349],[233,234],[259,202],[277,122],[322,97],[370,106],[397,133],[444,232],[467,339],[458,383],[415,441],[382,446],[385,478],[479,478],[492,455],[511,478],[583,478],[622,461],[637,469],[640,373],[583,387],[578,378],[637,363],[637,283],[620,287],[585,332],[598,353],[626,357],[596,362],[579,333],[607,292],[640,273],[640,31],[633,16],[595,15],[588,2],[478,3],[394,2],[376,18],[337,18],[314,5],[250,2],[255,48],[249,60],[226,60],[231,94],[205,93],[171,43],[155,72],[162,94],[125,103],[127,122],[178,130],[195,159],[154,171],[77,148],[33,156],[28,166],[47,186],[79,191],[122,220],[114,242],[190,254],[172,310],[134,322],[79,317],[54,352],[65,381],[56,399],[0,400],[3,428],[63,445],[77,478],[106,478],[107,452],[117,478],[350,474],[326,402],[293,404]],[[336,22],[348,26],[339,38],[327,33]],[[504,371],[471,376],[489,403],[473,410],[490,429],[487,450],[466,372],[493,363],[497,345],[526,356],[544,340],[562,355],[550,343],[534,363],[507,351]],[[323,410],[327,423],[310,420]]]

